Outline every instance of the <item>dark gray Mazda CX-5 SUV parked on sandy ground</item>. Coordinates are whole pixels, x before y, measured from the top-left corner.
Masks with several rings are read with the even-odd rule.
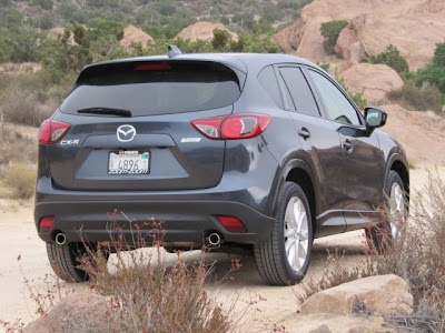
[[[130,221],[151,219],[169,251],[250,253],[267,283],[294,284],[314,238],[367,228],[379,246],[382,226],[397,233],[378,211],[406,209],[409,175],[375,131],[386,118],[291,56],[171,48],[91,64],[41,125],[36,226],[67,281],[88,278],[83,240],[131,242]]]

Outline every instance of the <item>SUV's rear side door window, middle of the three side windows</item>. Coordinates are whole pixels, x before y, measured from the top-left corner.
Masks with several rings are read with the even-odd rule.
[[[295,110],[309,115],[319,115],[313,92],[299,68],[280,68],[283,79],[294,100]]]

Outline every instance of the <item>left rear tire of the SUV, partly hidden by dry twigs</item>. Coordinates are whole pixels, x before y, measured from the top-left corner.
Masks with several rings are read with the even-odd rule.
[[[93,244],[92,246],[90,251],[96,252],[97,245]],[[83,243],[66,243],[63,245],[47,243],[51,269],[57,276],[67,282],[85,282],[89,280],[87,272],[79,269],[80,262],[78,261],[78,258],[82,258],[88,252]],[[103,255],[108,261],[109,252],[103,252]]]

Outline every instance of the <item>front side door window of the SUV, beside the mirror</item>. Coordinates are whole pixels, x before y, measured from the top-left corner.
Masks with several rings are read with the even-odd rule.
[[[325,102],[326,111],[332,120],[347,124],[360,124],[355,108],[333,82],[315,71],[309,70],[309,74]]]

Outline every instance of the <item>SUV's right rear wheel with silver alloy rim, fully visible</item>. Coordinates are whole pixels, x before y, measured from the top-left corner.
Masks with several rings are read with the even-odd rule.
[[[296,219],[296,215],[299,218]],[[254,248],[263,280],[273,285],[300,282],[309,266],[313,241],[313,223],[306,194],[296,183],[286,182],[278,196],[274,230],[266,242]]]

